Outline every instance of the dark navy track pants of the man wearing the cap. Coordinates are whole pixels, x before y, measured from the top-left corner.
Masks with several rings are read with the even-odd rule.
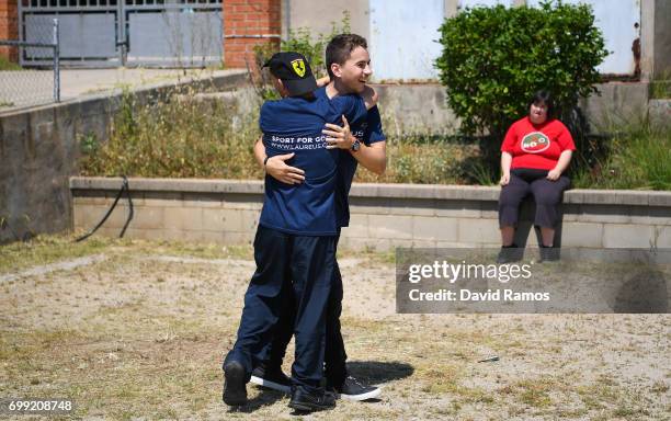
[[[306,391],[319,390],[336,237],[294,236],[260,226],[254,260],[257,271],[244,294],[238,339],[224,365],[240,362],[249,378],[253,364],[266,357],[265,348],[281,315],[293,311],[296,353],[292,378]]]

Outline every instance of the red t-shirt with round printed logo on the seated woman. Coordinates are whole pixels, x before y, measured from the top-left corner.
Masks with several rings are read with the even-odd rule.
[[[501,145],[501,151],[513,157],[511,169],[551,170],[557,166],[561,152],[567,149],[576,150],[576,145],[564,123],[548,120],[535,125],[528,116],[510,126]]]

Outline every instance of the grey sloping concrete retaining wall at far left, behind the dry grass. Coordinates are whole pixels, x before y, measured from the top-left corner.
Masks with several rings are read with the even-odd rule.
[[[182,87],[198,82],[184,83]],[[247,73],[215,78],[226,89],[247,83]],[[173,84],[139,90],[139,104],[174,91]],[[0,114],[0,243],[26,232],[58,232],[70,227],[72,208],[68,178],[78,172],[81,136],[109,138],[121,91],[112,95]]]

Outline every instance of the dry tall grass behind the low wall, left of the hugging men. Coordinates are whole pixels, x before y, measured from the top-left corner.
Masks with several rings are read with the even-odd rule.
[[[258,113],[237,116],[220,101],[173,93],[141,105],[125,93],[109,141],[81,138],[86,175],[259,178],[252,147]]]

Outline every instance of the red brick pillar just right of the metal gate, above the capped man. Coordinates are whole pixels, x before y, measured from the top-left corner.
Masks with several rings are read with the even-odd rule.
[[[253,62],[254,45],[269,42],[280,44],[278,37],[253,36],[281,34],[281,0],[224,0],[224,64],[226,67],[246,67],[246,60]]]

